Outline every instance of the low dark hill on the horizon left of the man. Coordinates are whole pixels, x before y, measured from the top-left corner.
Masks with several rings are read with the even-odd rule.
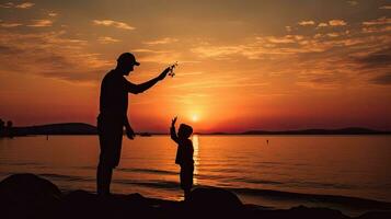
[[[96,127],[83,123],[49,124],[41,126],[14,127],[14,136],[27,135],[96,135]]]

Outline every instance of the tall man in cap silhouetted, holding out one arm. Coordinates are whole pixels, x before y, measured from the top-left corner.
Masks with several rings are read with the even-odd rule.
[[[124,126],[126,136],[134,139],[135,132],[127,118],[128,93],[141,93],[163,80],[171,68],[164,69],[154,79],[141,84],[127,81],[124,76],[129,76],[135,66],[140,64],[130,53],[122,54],[117,66],[102,80],[100,96],[100,115],[97,116],[97,132],[101,154],[96,171],[96,192],[100,196],[110,195],[113,169],[119,163]]]

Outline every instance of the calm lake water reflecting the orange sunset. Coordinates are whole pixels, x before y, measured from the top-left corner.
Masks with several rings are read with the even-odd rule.
[[[391,201],[390,142],[391,136],[193,136],[194,182],[226,187],[245,203],[277,208],[303,204],[347,209],[265,191]],[[182,199],[175,150],[169,136],[124,138],[113,192]],[[0,180],[30,172],[64,191],[95,191],[97,155],[96,136],[0,139]]]

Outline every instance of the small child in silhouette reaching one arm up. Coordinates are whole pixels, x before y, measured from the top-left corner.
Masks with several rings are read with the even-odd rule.
[[[186,124],[181,124],[177,135],[175,130],[176,117],[171,123],[171,139],[177,143],[175,163],[181,166],[181,188],[184,192],[185,200],[188,200],[188,196],[193,186],[193,142],[188,139],[193,134],[193,128]]]

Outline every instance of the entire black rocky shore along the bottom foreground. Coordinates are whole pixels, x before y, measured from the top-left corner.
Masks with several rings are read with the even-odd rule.
[[[67,194],[34,174],[15,174],[0,182],[0,218],[312,218],[348,219],[338,210],[298,206],[286,210],[243,205],[222,188],[195,188],[191,199],[172,201],[140,194],[100,198],[85,191]],[[390,219],[391,211],[366,212],[357,219]]]

